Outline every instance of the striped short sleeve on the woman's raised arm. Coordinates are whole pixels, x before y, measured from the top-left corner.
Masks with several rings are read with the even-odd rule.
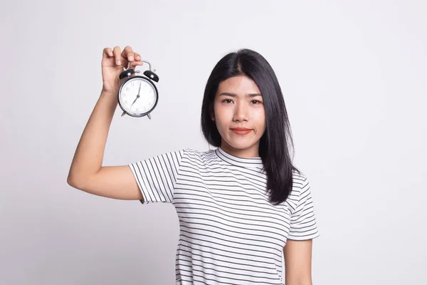
[[[183,155],[184,150],[176,150],[130,163],[130,169],[144,197],[142,204],[172,203],[176,176]]]

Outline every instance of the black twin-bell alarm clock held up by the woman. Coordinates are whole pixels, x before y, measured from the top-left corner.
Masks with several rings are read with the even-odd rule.
[[[124,115],[130,115],[131,117],[140,118],[147,115],[151,120],[150,113],[156,108],[157,102],[159,101],[159,91],[155,86],[155,83],[159,82],[159,76],[152,71],[151,64],[148,61],[142,61],[148,63],[149,70],[144,71],[144,76],[139,76],[134,68],[130,68],[128,63],[125,71],[122,71],[119,75],[120,84],[119,92],[117,94],[117,100],[122,108]]]

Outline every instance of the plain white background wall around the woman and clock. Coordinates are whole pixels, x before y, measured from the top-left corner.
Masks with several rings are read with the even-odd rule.
[[[172,204],[68,186],[105,47],[157,69],[152,120],[113,118],[104,165],[207,150],[204,86],[273,66],[312,185],[314,284],[427,284],[426,1],[1,1],[0,284],[174,284]],[[144,70],[144,69],[142,69]]]

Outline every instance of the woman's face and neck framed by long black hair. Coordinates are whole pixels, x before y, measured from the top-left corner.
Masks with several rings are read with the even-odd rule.
[[[258,157],[265,132],[265,110],[258,86],[247,76],[228,78],[218,86],[212,120],[221,135],[221,147],[238,157]]]

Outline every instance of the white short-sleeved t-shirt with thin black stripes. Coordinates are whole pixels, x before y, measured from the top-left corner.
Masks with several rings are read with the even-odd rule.
[[[221,147],[130,164],[143,203],[169,202],[178,214],[177,285],[284,284],[287,239],[319,236],[307,177],[294,171],[288,200],[273,205],[262,167]]]

